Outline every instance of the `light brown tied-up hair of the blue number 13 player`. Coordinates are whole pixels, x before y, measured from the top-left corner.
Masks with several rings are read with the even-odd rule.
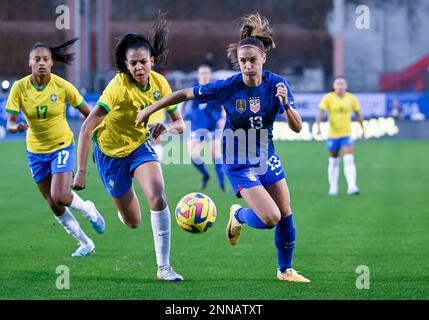
[[[253,13],[242,18],[243,23],[240,28],[240,41],[231,43],[227,49],[227,56],[232,65],[239,67],[237,50],[242,46],[253,46],[264,53],[268,53],[276,47],[273,38],[273,31],[267,18],[259,13]]]

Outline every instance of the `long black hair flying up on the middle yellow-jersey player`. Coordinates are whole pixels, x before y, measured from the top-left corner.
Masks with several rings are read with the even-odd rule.
[[[167,60],[168,28],[165,13],[159,13],[152,26],[151,38],[139,33],[127,33],[119,40],[115,48],[116,68],[123,73],[128,73],[125,64],[126,54],[129,49],[145,48],[156,64],[165,63]]]

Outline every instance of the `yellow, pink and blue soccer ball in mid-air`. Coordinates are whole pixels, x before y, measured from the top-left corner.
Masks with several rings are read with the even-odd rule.
[[[176,206],[176,221],[187,232],[206,232],[216,221],[216,206],[203,193],[189,193]]]

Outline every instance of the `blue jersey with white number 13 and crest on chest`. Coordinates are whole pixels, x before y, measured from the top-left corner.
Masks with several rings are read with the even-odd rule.
[[[278,83],[288,89],[288,103],[294,104],[287,81],[274,73],[264,71],[258,87],[247,87],[242,74],[194,87],[196,103],[223,104],[227,117],[223,131],[223,160],[240,168],[265,163],[274,150],[273,123],[284,106],[276,97]],[[233,148],[233,157],[231,152]],[[264,152],[264,150],[267,152]]]

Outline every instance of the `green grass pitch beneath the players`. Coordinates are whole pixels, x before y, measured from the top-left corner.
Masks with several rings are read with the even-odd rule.
[[[273,230],[245,227],[238,246],[227,243],[228,208],[237,200],[218,191],[213,166],[205,193],[217,206],[214,227],[189,234],[172,216],[171,262],[183,283],[155,280],[150,214],[141,191],[142,226],[131,230],[118,220],[92,163],[80,194],[96,203],[106,233],[96,234],[75,212],[96,253],[72,258],[76,241],[51,216],[31,179],[25,144],[15,141],[0,143],[0,299],[428,299],[429,143],[358,143],[357,197],[346,195],[343,176],[340,195],[327,195],[323,143],[276,145],[297,229],[294,267],[310,284],[276,280]],[[198,191],[200,177],[191,165],[166,165],[164,176],[174,212],[184,194]],[[55,287],[58,265],[70,268],[70,290]],[[359,265],[369,267],[369,290],[356,289]]]

